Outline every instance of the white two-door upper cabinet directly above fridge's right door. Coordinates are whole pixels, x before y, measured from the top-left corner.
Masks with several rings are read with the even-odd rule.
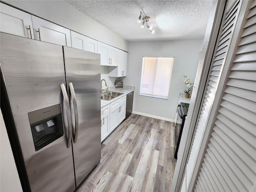
[[[77,32],[71,31],[72,47],[97,53],[97,41]]]

